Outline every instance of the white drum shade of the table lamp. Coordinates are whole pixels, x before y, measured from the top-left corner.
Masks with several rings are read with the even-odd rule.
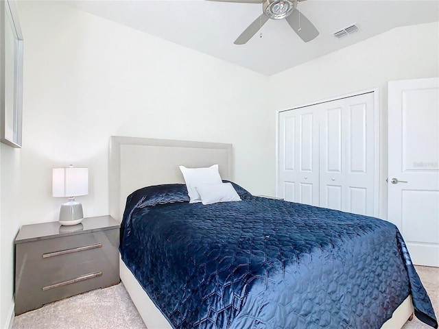
[[[53,169],[52,195],[78,197],[88,194],[88,168]]]

